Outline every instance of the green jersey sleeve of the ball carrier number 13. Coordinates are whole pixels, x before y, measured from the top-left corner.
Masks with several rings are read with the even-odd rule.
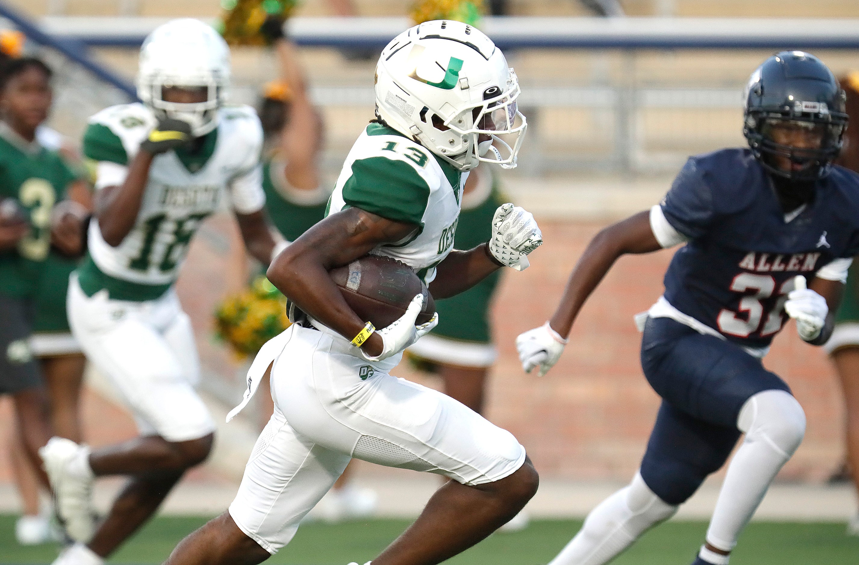
[[[346,204],[394,222],[423,225],[430,185],[405,161],[369,157],[352,163],[343,185]]]

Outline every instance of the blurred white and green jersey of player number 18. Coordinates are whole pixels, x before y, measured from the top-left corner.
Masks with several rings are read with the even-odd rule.
[[[78,272],[85,293],[107,289],[115,300],[154,300],[175,282],[200,222],[225,197],[240,214],[263,207],[259,118],[250,106],[219,114],[198,151],[181,148],[155,156],[137,222],[119,246],[108,245],[99,222],[90,222],[88,258]],[[156,122],[139,103],[112,106],[89,119],[83,153],[97,161],[96,191],[122,184]]]

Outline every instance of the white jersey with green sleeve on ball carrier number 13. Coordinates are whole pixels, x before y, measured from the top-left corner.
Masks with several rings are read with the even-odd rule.
[[[419,226],[416,234],[373,253],[402,261],[429,284],[436,278],[436,265],[454,247],[467,176],[420,143],[373,123],[346,157],[328,214],[355,207]]]

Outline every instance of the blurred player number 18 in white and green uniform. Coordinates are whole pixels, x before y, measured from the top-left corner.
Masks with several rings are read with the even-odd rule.
[[[140,437],[91,453],[60,438],[43,448],[58,515],[78,542],[60,563],[100,563],[210,452],[215,424],[193,388],[192,327],[174,292],[200,222],[226,198],[255,258],[268,264],[283,247],[263,210],[259,118],[248,107],[222,107],[228,79],[221,36],[200,21],[174,20],[143,43],[143,104],[90,118],[83,151],[97,162],[95,213],[88,256],[70,281],[69,320]],[[131,479],[96,530],[89,495],[94,477],[106,475]]]

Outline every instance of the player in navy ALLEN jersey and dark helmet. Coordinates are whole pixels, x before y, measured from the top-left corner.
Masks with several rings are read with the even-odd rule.
[[[693,564],[727,565],[805,433],[800,404],[760,358],[788,317],[807,343],[825,343],[859,252],[859,175],[832,165],[846,124],[844,91],[819,59],[768,58],[746,88],[749,149],[691,157],[661,204],[594,237],[552,318],[517,338],[523,368],[545,374],[618,257],[685,243],[665,294],[637,316],[642,368],[662,398],[641,467],[551,565],[612,560],[670,518],[746,434]]]

